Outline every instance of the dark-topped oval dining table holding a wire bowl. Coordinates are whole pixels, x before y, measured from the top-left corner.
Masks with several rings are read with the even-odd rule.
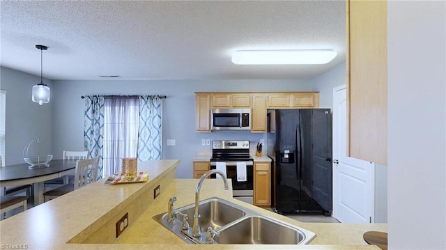
[[[0,187],[33,185],[34,205],[43,203],[44,183],[46,180],[75,173],[75,159],[53,159],[48,166],[30,168],[27,163],[3,166],[0,168]]]

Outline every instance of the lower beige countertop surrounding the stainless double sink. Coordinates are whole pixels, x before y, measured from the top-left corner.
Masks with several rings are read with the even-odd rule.
[[[118,244],[157,244],[160,241],[169,242],[169,244],[186,244],[179,237],[171,233],[166,228],[162,227],[152,217],[156,214],[167,212],[167,201],[171,196],[176,196],[176,208],[183,207],[194,203],[194,189],[197,186],[198,180],[194,179],[177,179],[169,188],[162,194],[157,201],[151,205],[144,214],[133,224],[131,228],[123,235],[121,235],[116,243]],[[258,208],[254,205],[249,205],[243,201],[238,201],[232,198],[230,190],[223,190],[222,180],[205,180],[201,187],[200,200],[218,196],[224,198],[232,203],[245,206],[250,210],[254,210],[268,217],[285,221],[289,224],[305,228],[316,233],[316,238],[310,242],[310,245],[338,245],[339,249],[344,249],[346,245],[363,245],[367,243],[362,239],[362,235],[367,231],[385,231],[387,232],[387,224],[341,224],[341,223],[304,223],[284,217],[275,212],[270,212],[263,208]],[[340,247],[342,246],[342,247]],[[284,246],[281,246],[282,248]],[[305,246],[294,246],[294,249]],[[321,246],[319,246],[321,247]],[[330,246],[333,247],[333,246]],[[311,248],[310,248],[311,249]],[[325,249],[325,248],[323,248]],[[333,248],[328,248],[333,249]]]

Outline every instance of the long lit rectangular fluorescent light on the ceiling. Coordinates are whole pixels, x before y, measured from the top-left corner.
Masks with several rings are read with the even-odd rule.
[[[232,62],[239,65],[325,64],[336,57],[332,50],[238,50]]]

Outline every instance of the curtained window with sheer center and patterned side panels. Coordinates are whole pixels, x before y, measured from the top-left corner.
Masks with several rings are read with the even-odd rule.
[[[101,157],[99,176],[121,170],[124,157],[162,159],[162,98],[157,95],[88,95],[84,149]]]

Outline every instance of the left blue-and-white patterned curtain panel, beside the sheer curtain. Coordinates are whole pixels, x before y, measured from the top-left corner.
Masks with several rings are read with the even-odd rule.
[[[104,130],[104,97],[89,95],[85,97],[84,150],[90,151],[90,159],[100,157],[98,179],[102,178],[102,140]]]

